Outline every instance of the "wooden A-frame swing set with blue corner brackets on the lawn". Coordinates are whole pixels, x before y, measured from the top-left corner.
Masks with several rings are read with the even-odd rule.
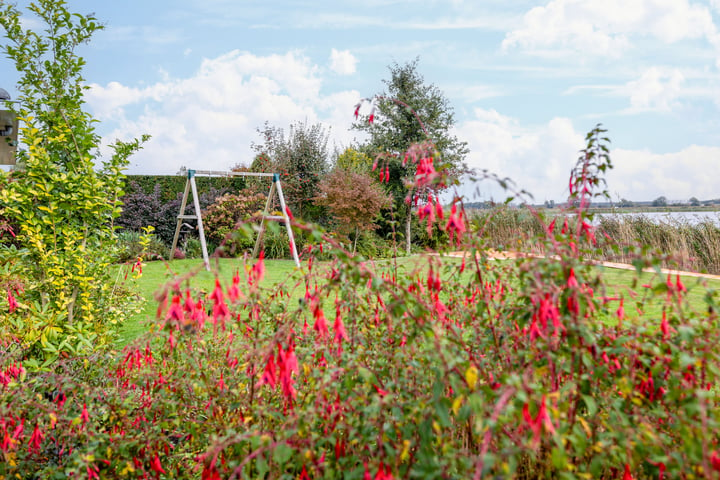
[[[202,248],[203,260],[205,262],[205,269],[210,270],[210,259],[207,253],[207,242],[205,241],[205,229],[202,224],[202,213],[200,210],[200,197],[198,196],[197,185],[195,184],[195,177],[272,177],[272,185],[268,192],[267,202],[265,203],[265,210],[262,213],[260,220],[260,231],[255,239],[255,247],[253,248],[252,258],[257,258],[260,253],[262,246],[263,237],[265,235],[265,222],[268,220],[284,222],[285,228],[287,229],[288,240],[290,242],[290,252],[292,252],[293,260],[295,265],[300,267],[300,258],[298,257],[297,248],[295,247],[295,237],[293,237],[292,228],[290,226],[290,217],[288,216],[288,209],[285,205],[285,197],[282,193],[282,185],[280,184],[280,175],[277,173],[259,173],[259,172],[220,172],[212,170],[188,170],[187,180],[185,181],[185,193],[183,193],[183,199],[180,203],[180,212],[177,216],[177,226],[175,227],[175,236],[173,237],[173,246],[170,250],[170,260],[175,255],[175,249],[180,238],[180,229],[182,228],[185,220],[197,220],[198,234],[200,236],[200,247]],[[193,207],[195,207],[194,215],[186,215],[185,207],[187,206],[188,197],[192,194]],[[273,202],[273,197],[277,194],[280,202],[281,215],[270,215],[270,206]]]

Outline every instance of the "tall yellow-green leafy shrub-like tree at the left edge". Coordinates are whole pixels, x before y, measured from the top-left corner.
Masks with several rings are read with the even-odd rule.
[[[22,279],[23,325],[10,332],[44,358],[109,341],[122,316],[113,304],[109,276],[113,220],[121,210],[123,169],[142,140],[116,142],[100,161],[94,120],[83,110],[85,61],[76,49],[103,27],[93,15],[69,12],[61,0],[30,3],[45,28],[25,29],[13,5],[0,4],[4,53],[20,73],[19,103],[10,104],[23,123],[20,169],[0,191],[0,216],[17,225],[16,252],[0,252]],[[6,174],[0,174],[6,175]],[[3,183],[3,182],[0,182]]]

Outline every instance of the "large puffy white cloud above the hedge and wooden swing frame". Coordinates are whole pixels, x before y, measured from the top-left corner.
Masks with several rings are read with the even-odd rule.
[[[360,95],[322,94],[319,70],[297,52],[263,57],[233,51],[203,60],[189,78],[145,88],[93,85],[87,99],[114,127],[104,143],[152,136],[132,157],[130,173],[174,174],[181,166],[227,170],[252,161],[251,144],[262,141],[256,128],[266,121],[285,129],[297,121],[334,125],[334,141],[350,142],[352,107]]]

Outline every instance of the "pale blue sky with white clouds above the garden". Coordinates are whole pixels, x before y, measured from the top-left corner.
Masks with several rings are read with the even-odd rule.
[[[22,8],[28,2],[17,2]],[[68,0],[105,25],[79,53],[107,145],[147,133],[128,173],[249,165],[265,122],[321,123],[331,148],[389,66],[453,108],[467,164],[534,203],[567,198],[585,133],[610,137],[613,201],[720,198],[720,0]],[[41,28],[27,15],[24,24]],[[18,75],[0,59],[0,87]],[[108,154],[107,148],[103,153]],[[467,181],[467,201],[501,200]]]

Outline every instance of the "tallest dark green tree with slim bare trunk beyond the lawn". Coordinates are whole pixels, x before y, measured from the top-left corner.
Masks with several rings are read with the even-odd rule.
[[[413,183],[415,166],[403,162],[405,154],[413,145],[429,142],[428,148],[436,153],[435,168],[444,169],[448,182],[452,182],[467,171],[464,159],[468,153],[467,143],[450,134],[455,124],[452,107],[438,87],[425,83],[418,63],[416,58],[404,65],[390,65],[390,79],[383,80],[387,90],[375,97],[373,111],[353,125],[370,134],[368,151],[383,156],[381,165],[389,177],[387,189],[393,196],[399,220],[405,222],[408,253],[411,206],[425,192],[408,189],[407,185]],[[408,197],[410,201],[406,202]]]

